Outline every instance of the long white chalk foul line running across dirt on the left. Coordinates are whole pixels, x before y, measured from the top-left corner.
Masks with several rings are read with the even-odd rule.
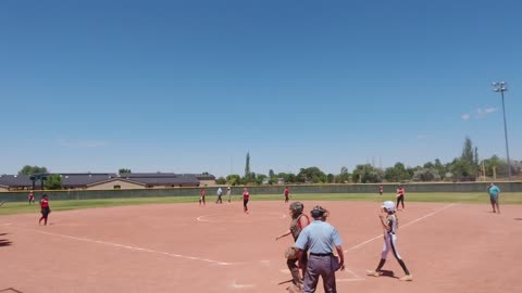
[[[12,225],[12,226],[15,226],[15,225]],[[206,262],[206,263],[216,264],[216,265],[221,265],[221,266],[232,265],[232,263],[219,262],[219,260],[213,260],[213,259],[203,258],[203,257],[181,255],[181,254],[169,253],[169,252],[161,252],[161,251],[154,251],[154,250],[138,247],[138,246],[132,246],[132,245],[124,245],[124,244],[119,244],[119,243],[112,243],[112,242],[107,242],[107,241],[101,241],[101,240],[94,240],[94,239],[88,239],[88,238],[79,238],[79,237],[71,237],[71,235],[64,235],[64,234],[45,232],[45,231],[39,231],[39,230],[35,230],[35,229],[28,229],[28,228],[20,227],[20,226],[15,226],[15,227],[18,227],[18,228],[25,229],[25,230],[30,230],[30,231],[34,231],[34,232],[37,232],[37,233],[40,233],[40,234],[53,235],[53,237],[59,237],[59,238],[64,238],[64,239],[71,239],[71,240],[76,240],[76,241],[83,241],[83,242],[89,242],[89,243],[103,244],[103,245],[113,246],[113,247],[119,247],[119,249],[125,249],[125,250],[129,250],[129,251],[138,251],[138,252],[147,252],[147,253],[153,253],[153,254],[161,254],[161,255],[166,255],[166,256],[171,256],[171,257],[177,257],[177,258],[185,258],[185,259],[191,259],[191,260]]]

